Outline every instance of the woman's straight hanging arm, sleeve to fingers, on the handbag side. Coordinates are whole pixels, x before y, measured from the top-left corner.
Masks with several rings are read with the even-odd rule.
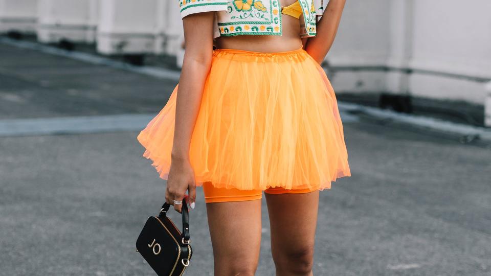
[[[196,182],[189,160],[189,147],[211,66],[213,19],[214,12],[195,13],[183,18],[186,52],[177,87],[174,140],[165,198],[173,204],[172,200],[182,200],[189,190],[191,208],[194,208],[196,200]],[[174,205],[177,212],[181,213],[181,208],[181,204]]]

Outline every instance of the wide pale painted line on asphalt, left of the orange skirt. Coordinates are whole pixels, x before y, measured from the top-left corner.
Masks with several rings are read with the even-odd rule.
[[[82,134],[113,131],[138,131],[156,114],[120,114],[37,119],[0,120],[1,136]]]

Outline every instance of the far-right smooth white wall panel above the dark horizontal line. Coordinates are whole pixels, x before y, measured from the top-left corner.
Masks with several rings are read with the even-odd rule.
[[[412,66],[491,77],[491,1],[415,1]]]

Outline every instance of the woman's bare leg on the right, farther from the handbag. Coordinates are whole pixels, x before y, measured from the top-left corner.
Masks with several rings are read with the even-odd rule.
[[[313,275],[319,191],[265,197],[276,275]]]

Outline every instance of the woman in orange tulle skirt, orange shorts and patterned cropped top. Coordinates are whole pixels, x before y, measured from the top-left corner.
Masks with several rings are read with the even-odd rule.
[[[215,275],[255,273],[262,192],[277,275],[312,275],[319,191],[350,175],[320,66],[344,4],[180,1],[181,78],[138,140],[175,210],[203,186]]]

